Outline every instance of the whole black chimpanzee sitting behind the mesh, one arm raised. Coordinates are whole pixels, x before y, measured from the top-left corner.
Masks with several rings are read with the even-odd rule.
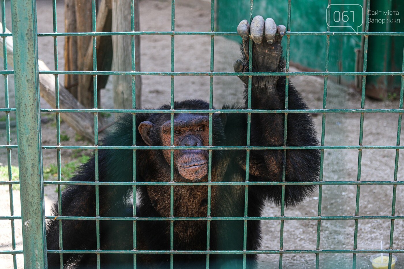
[[[240,22],[238,34],[243,39],[242,60],[234,63],[236,72],[248,71],[249,36],[252,38],[252,71],[284,71],[281,57],[281,40],[286,27],[276,25],[273,19],[257,16],[251,21]],[[278,35],[276,35],[278,34]],[[248,77],[240,76],[246,84],[244,105],[232,105],[223,109],[246,109],[248,104]],[[252,76],[251,108],[284,109],[284,76]],[[174,103],[175,109],[209,109],[209,104],[201,100],[186,100]],[[159,109],[170,109],[163,105]],[[288,109],[307,109],[299,92],[289,84]],[[213,146],[246,146],[247,113],[214,113],[212,120]],[[132,115],[128,114],[116,122],[116,128],[100,145],[130,146],[132,141]],[[136,114],[136,145],[170,146],[170,114]],[[281,146],[284,144],[284,114],[252,113],[250,127],[251,146]],[[289,113],[287,121],[288,146],[318,145],[314,123],[307,113]],[[200,147],[209,145],[208,113],[175,113],[174,145]],[[170,181],[170,150],[100,149],[98,154],[99,181]],[[174,150],[174,182],[207,182],[208,151],[200,149]],[[246,180],[246,150],[213,150],[211,181],[243,182]],[[133,171],[133,162],[136,171]],[[249,181],[282,181],[285,167],[286,181],[317,181],[320,167],[320,153],[315,149],[250,150]],[[72,181],[95,181],[95,158],[83,164]],[[100,185],[99,216],[130,217],[131,185]],[[137,187],[138,201],[136,216],[154,218],[152,220],[63,220],[63,250],[97,250],[97,229],[99,229],[100,250],[243,250],[244,221],[217,220],[215,217],[243,217],[246,188],[244,185],[213,185],[210,196],[210,223],[205,220],[176,220],[173,222],[173,242],[170,242],[170,221],[156,217],[170,217],[170,186],[141,185]],[[286,185],[284,202],[292,206],[302,202],[313,185]],[[248,187],[247,216],[261,216],[264,202],[281,203],[282,186],[250,185]],[[135,196],[135,194],[133,194]],[[207,217],[207,185],[175,185],[173,187],[174,217]],[[69,185],[62,193],[62,216],[96,216],[96,192],[94,185]],[[53,206],[53,214],[58,215],[58,205]],[[209,230],[208,230],[209,225]],[[134,230],[134,226],[136,230]],[[207,232],[210,231],[209,236]],[[133,238],[136,235],[136,247]],[[59,250],[59,221],[50,220],[46,229],[49,250]],[[207,242],[207,238],[209,238]],[[247,221],[246,250],[257,250],[261,241],[259,221]],[[208,243],[208,245],[207,245]],[[48,254],[49,268],[59,268],[60,254]],[[133,268],[136,258],[137,268],[206,268],[206,254],[179,252],[170,257],[169,253],[138,253],[136,256],[125,252],[97,254],[65,253],[64,268]],[[172,261],[171,261],[172,258]],[[254,268],[257,254],[246,255],[246,265]],[[209,255],[210,268],[241,268],[243,254],[212,253]]]

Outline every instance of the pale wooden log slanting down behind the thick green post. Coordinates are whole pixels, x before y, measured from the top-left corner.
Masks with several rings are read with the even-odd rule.
[[[0,28],[2,24],[0,23]],[[6,29],[6,33],[10,33]],[[0,38],[0,46],[3,45],[3,39]],[[13,37],[6,37],[7,63],[13,67]],[[0,57],[4,57],[3,50],[0,50]],[[46,64],[38,60],[39,70],[49,70]],[[56,108],[56,89],[55,76],[52,74],[39,75],[40,95],[53,108]],[[73,95],[63,86],[59,85],[59,105],[61,109],[84,109]],[[94,116],[92,113],[60,113],[61,118],[72,127],[79,135],[85,137],[88,141],[94,142]],[[102,122],[99,122],[99,130],[103,129]]]

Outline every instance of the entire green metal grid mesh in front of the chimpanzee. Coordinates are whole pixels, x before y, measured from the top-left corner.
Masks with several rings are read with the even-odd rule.
[[[18,0],[16,2],[23,3],[25,5],[34,4],[35,0]],[[7,150],[7,164],[8,164],[8,181],[0,181],[0,185],[9,185],[10,189],[10,216],[0,216],[0,220],[10,220],[11,221],[11,234],[12,234],[12,250],[0,251],[0,254],[12,254],[13,255],[13,263],[14,268],[17,268],[16,262],[16,254],[24,253],[25,261],[27,263],[28,257],[35,259],[35,253],[30,252],[25,249],[15,250],[15,228],[14,228],[14,220],[16,219],[24,219],[24,216],[15,216],[13,210],[13,193],[11,191],[14,184],[19,184],[19,181],[12,181],[13,176],[11,174],[11,149],[16,149],[17,145],[11,145],[10,140],[10,118],[9,113],[11,111],[16,111],[15,108],[9,107],[8,102],[8,74],[13,74],[14,71],[9,71],[7,66],[7,53],[6,53],[6,42],[5,38],[7,36],[11,36],[11,34],[6,33],[6,24],[5,24],[5,11],[4,11],[4,3],[5,0],[0,0],[1,8],[2,8],[2,34],[0,36],[3,39],[3,53],[4,53],[4,71],[0,71],[0,74],[4,76],[4,88],[5,88],[5,100],[6,107],[0,108],[0,112],[4,112],[6,114],[6,145],[0,145],[0,149]],[[59,216],[57,219],[59,220],[59,247],[60,250],[48,250],[48,253],[59,253],[60,254],[60,266],[63,266],[63,254],[64,253],[95,253],[97,254],[97,263],[98,268],[100,267],[100,254],[101,253],[133,253],[134,255],[134,268],[136,267],[136,254],[139,253],[166,253],[170,254],[170,265],[173,268],[173,261],[175,258],[174,254],[206,254],[206,268],[209,268],[209,258],[210,254],[243,254],[243,267],[246,267],[246,254],[248,253],[258,253],[258,254],[279,254],[279,268],[282,268],[282,255],[283,254],[316,254],[316,268],[319,268],[319,256],[320,254],[326,253],[351,253],[353,254],[353,268],[356,267],[356,255],[358,253],[372,253],[372,252],[383,252],[389,253],[389,268],[391,268],[391,258],[392,253],[402,253],[404,250],[393,249],[393,231],[394,231],[394,221],[396,219],[404,219],[404,216],[396,216],[395,215],[395,206],[396,206],[396,189],[397,185],[404,185],[404,182],[397,181],[398,174],[398,156],[399,150],[403,148],[400,146],[400,135],[401,135],[401,121],[402,121],[402,112],[403,112],[403,96],[404,96],[404,60],[401,72],[366,72],[367,66],[367,48],[368,48],[368,36],[377,35],[377,36],[404,36],[404,33],[389,33],[389,32],[368,32],[369,23],[368,18],[369,14],[366,14],[366,26],[365,32],[359,32],[358,34],[352,32],[329,32],[330,27],[328,26],[327,32],[291,32],[290,31],[290,14],[291,14],[291,0],[288,0],[288,21],[287,21],[287,43],[286,43],[286,72],[278,72],[278,73],[265,73],[265,72],[257,72],[252,73],[252,40],[250,39],[249,46],[249,70],[245,73],[232,73],[232,72],[215,72],[213,66],[213,57],[214,57],[214,39],[215,36],[237,36],[236,32],[215,32],[215,1],[211,0],[211,29],[210,32],[175,32],[175,0],[171,1],[171,32],[135,32],[134,28],[134,20],[135,20],[135,5],[134,1],[131,1],[130,9],[131,9],[131,32],[95,32],[96,31],[96,16],[95,16],[95,0],[92,0],[92,31],[88,33],[58,33],[57,32],[57,14],[56,14],[56,0],[53,0],[53,33],[41,33],[37,34],[37,36],[51,36],[54,38],[54,55],[55,55],[55,71],[38,71],[37,74],[53,74],[55,76],[55,86],[56,86],[56,108],[55,109],[40,109],[42,112],[53,112],[56,114],[56,129],[57,129],[57,145],[55,146],[44,146],[42,149],[56,149],[57,150],[57,181],[46,181],[43,184],[57,185],[58,186],[58,201],[59,201]],[[253,18],[253,4],[254,1],[250,0],[250,20]],[[328,4],[331,4],[331,0],[328,0]],[[370,0],[366,1],[367,8],[369,10]],[[20,10],[21,11],[21,10]],[[330,13],[330,10],[328,10]],[[328,14],[329,15],[329,14]],[[330,18],[330,16],[328,16]],[[16,18],[13,17],[13,20]],[[329,19],[328,19],[329,20]],[[329,21],[328,21],[329,22]],[[330,25],[328,23],[328,25]],[[34,27],[36,30],[36,27]],[[96,40],[98,36],[110,36],[110,35],[129,35],[131,36],[131,56],[132,56],[132,71],[97,71],[97,46]],[[171,70],[170,72],[141,72],[136,71],[135,69],[135,36],[136,35],[169,35],[171,36]],[[204,35],[211,37],[210,43],[210,71],[209,72],[175,72],[174,68],[174,41],[175,36],[177,35]],[[312,35],[312,36],[326,36],[326,65],[324,67],[324,71],[320,72],[290,72],[289,71],[289,58],[290,58],[290,36],[303,36],[303,35]],[[329,46],[330,46],[330,36],[337,35],[358,35],[364,36],[364,63],[363,63],[363,72],[330,72],[328,71],[328,56],[329,56]],[[57,50],[57,38],[63,36],[92,36],[93,38],[93,70],[94,71],[59,71],[59,63],[58,63],[58,50]],[[35,37],[36,39],[36,37]],[[33,55],[32,57],[37,58],[37,55]],[[93,88],[94,88],[94,108],[93,109],[59,109],[59,75],[61,74],[81,74],[81,75],[92,75],[93,76]],[[98,75],[126,75],[132,76],[132,108],[133,109],[98,109],[97,104],[97,76]],[[171,77],[171,100],[170,100],[170,110],[160,110],[160,109],[135,109],[136,107],[136,99],[135,99],[135,75],[143,75],[143,76],[170,76]],[[248,107],[247,109],[241,110],[228,110],[228,109],[213,109],[213,77],[214,76],[240,76],[245,75],[248,76]],[[277,110],[252,110],[251,109],[251,81],[252,76],[266,76],[266,75],[278,75],[278,76],[286,76],[286,92],[285,92],[285,107],[284,109]],[[288,85],[289,85],[289,76],[324,76],[324,93],[323,93],[323,106],[322,109],[300,109],[300,110],[288,110]],[[401,88],[400,88],[400,105],[398,109],[365,109],[365,87],[366,87],[366,76],[401,76]],[[209,76],[210,77],[210,98],[209,98],[209,109],[208,110],[174,110],[174,81],[175,76]],[[360,109],[327,109],[326,108],[326,98],[327,98],[327,84],[328,84],[328,76],[362,76],[362,98],[361,98],[361,108]],[[34,102],[34,100],[32,100]],[[22,109],[22,108],[21,108]],[[60,139],[60,113],[82,113],[82,112],[90,112],[94,113],[94,126],[95,133],[94,146],[62,146]],[[117,146],[100,146],[98,145],[98,113],[101,112],[113,112],[113,113],[132,113],[133,114],[133,145],[127,147],[117,147]],[[135,115],[136,113],[170,113],[171,119],[171,147],[142,147],[136,145],[136,130],[135,130]],[[247,113],[247,145],[245,147],[214,147],[212,146],[212,117],[213,113]],[[278,147],[252,147],[250,146],[250,122],[251,122],[251,113],[283,113],[285,115],[284,118],[284,145]],[[21,111],[21,113],[27,113],[27,111]],[[38,107],[39,113],[39,107]],[[208,147],[175,147],[175,149],[207,149],[209,153],[209,168],[208,168],[208,182],[195,182],[195,183],[179,183],[174,182],[174,166],[173,166],[173,132],[174,132],[174,114],[175,113],[208,113],[209,114],[209,146]],[[286,146],[286,126],[288,120],[288,113],[322,113],[322,132],[321,132],[321,145],[320,146]],[[325,146],[324,145],[324,136],[325,136],[325,122],[326,122],[326,113],[360,113],[360,135],[359,135],[359,143],[356,146]],[[363,122],[364,122],[364,114],[365,113],[398,113],[398,131],[397,131],[397,145],[396,146],[366,146],[362,144],[363,141]],[[21,147],[21,144],[20,144]],[[61,149],[91,149],[94,150],[95,156],[95,182],[74,182],[74,181],[62,181],[61,180]],[[132,182],[99,182],[98,181],[98,150],[99,149],[131,149],[133,150],[133,181]],[[138,149],[170,149],[170,162],[171,162],[171,170],[170,170],[170,182],[137,182],[136,181],[136,150]],[[212,164],[212,151],[215,149],[231,149],[231,150],[245,150],[246,151],[246,179],[243,182],[212,182],[211,175],[211,164]],[[249,175],[249,153],[250,150],[265,150],[265,149],[278,149],[283,150],[286,155],[286,150],[295,150],[295,149],[320,149],[321,150],[321,170],[320,170],[320,181],[318,182],[286,182],[285,181],[285,170],[286,164],[283,167],[282,173],[282,181],[281,182],[250,182],[248,181]],[[323,164],[324,164],[324,149],[357,149],[358,150],[358,176],[357,181],[323,181]],[[394,180],[393,181],[361,181],[361,160],[362,160],[362,150],[363,149],[396,149],[396,159],[395,159],[395,168],[394,168]],[[21,183],[26,181],[25,174],[20,174]],[[63,216],[63,212],[61,211],[61,187],[62,185],[95,185],[95,195],[96,195],[96,216],[95,217],[78,217],[78,216]],[[169,217],[161,217],[161,218],[142,218],[136,216],[136,195],[133,195],[133,217],[131,218],[121,218],[121,217],[100,217],[99,216],[99,185],[132,185],[133,192],[136,193],[137,186],[141,185],[160,185],[160,186],[170,186],[170,216]],[[208,188],[208,209],[206,217],[174,217],[173,210],[173,196],[174,196],[174,186],[179,185],[206,185]],[[245,202],[244,202],[244,217],[211,217],[211,186],[215,185],[244,185],[245,186]],[[281,214],[280,216],[274,217],[248,217],[248,187],[250,185],[281,185],[282,186],[282,202],[281,202]],[[318,193],[318,216],[284,216],[284,195],[285,195],[285,186],[286,185],[319,185],[319,193]],[[355,216],[322,216],[321,208],[322,208],[322,186],[323,185],[356,185],[356,210]],[[359,214],[359,204],[360,204],[360,186],[361,185],[393,185],[393,200],[392,200],[392,208],[391,215],[389,216],[360,216]],[[43,186],[42,186],[43,187]],[[27,186],[21,185],[21,188],[27,188]],[[41,198],[43,199],[43,197]],[[28,206],[27,204],[22,204],[22,206]],[[35,206],[35,205],[34,205]],[[40,205],[38,205],[39,207]],[[24,214],[24,212],[22,213]],[[41,219],[42,216],[36,216],[38,219]],[[46,216],[46,219],[54,219],[56,216]],[[95,220],[97,225],[97,250],[63,250],[63,238],[62,238],[62,220]],[[100,220],[126,220],[133,221],[133,250],[100,250],[100,239],[99,239],[99,221]],[[357,238],[358,238],[358,221],[359,220],[371,220],[371,219],[384,219],[391,220],[390,226],[390,242],[388,250],[362,250],[357,249]],[[170,250],[136,250],[136,221],[170,221]],[[177,251],[174,250],[174,238],[173,238],[173,226],[174,221],[196,221],[203,220],[207,222],[207,243],[206,243],[206,251]],[[211,221],[228,221],[228,220],[242,220],[244,221],[244,244],[243,250],[230,250],[230,251],[212,251],[210,250],[210,222]],[[276,220],[280,221],[280,246],[279,250],[246,250],[246,240],[247,240],[247,221],[248,220]],[[316,250],[283,250],[283,235],[284,235],[284,221],[285,220],[316,220],[317,221],[317,240],[316,240]],[[353,248],[350,250],[320,250],[320,228],[322,220],[354,220],[354,242]],[[42,220],[43,221],[43,220]],[[32,240],[34,238],[33,234],[27,233],[24,235],[24,241]],[[45,238],[42,235],[42,242],[44,242]],[[44,263],[44,261],[42,261]],[[44,265],[44,264],[42,264]],[[26,265],[27,266],[27,265]],[[39,267],[38,267],[39,268]]]

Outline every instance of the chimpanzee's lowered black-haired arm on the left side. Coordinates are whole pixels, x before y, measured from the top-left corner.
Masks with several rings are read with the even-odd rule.
[[[147,118],[138,114],[136,123],[140,124]],[[136,128],[137,130],[137,128]],[[132,145],[132,115],[125,115],[117,121],[116,129],[103,139],[100,145],[130,146]],[[137,132],[137,145],[145,145]],[[99,150],[98,174],[99,181],[132,181],[132,150],[102,149]],[[137,152],[139,162],[143,153]],[[137,166],[138,167],[138,166]],[[71,181],[95,181],[94,156],[83,164]],[[140,180],[137,177],[137,180]],[[121,216],[132,186],[99,187],[99,215]],[[96,193],[94,185],[67,185],[62,192],[62,216],[96,216]],[[52,208],[52,214],[58,215],[58,204]],[[96,249],[96,222],[93,220],[63,220],[62,239],[64,250],[95,250]],[[46,227],[47,248],[59,250],[59,221],[52,219]],[[102,240],[102,238],[101,238]],[[80,255],[64,254],[64,264],[77,262]],[[48,254],[48,267],[59,268],[59,254]]]

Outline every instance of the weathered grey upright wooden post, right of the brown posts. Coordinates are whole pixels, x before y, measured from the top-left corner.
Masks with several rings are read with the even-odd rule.
[[[130,0],[112,0],[112,31],[129,32]],[[135,31],[139,31],[139,1],[135,0]],[[112,70],[131,71],[132,53],[130,51],[131,36],[112,36],[113,60]],[[140,70],[140,39],[135,36],[135,67]],[[136,108],[141,105],[141,78],[136,76]],[[130,76],[113,76],[114,108],[132,108],[132,78]]]

